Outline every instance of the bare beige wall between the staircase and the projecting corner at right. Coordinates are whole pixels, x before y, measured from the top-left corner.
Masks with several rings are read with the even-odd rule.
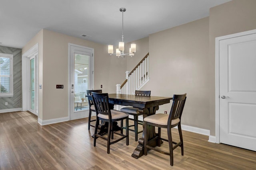
[[[150,82],[143,90],[152,96],[187,93],[182,124],[209,129],[208,18],[149,36]],[[170,112],[171,104],[157,113]]]

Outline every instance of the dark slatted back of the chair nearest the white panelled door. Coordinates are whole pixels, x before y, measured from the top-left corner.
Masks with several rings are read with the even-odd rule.
[[[170,124],[172,120],[174,119],[181,119],[182,111],[184,109],[184,105],[186,102],[186,93],[185,94],[180,94],[180,95],[173,95],[173,102],[172,102],[172,108],[168,117],[168,126],[170,127]],[[174,127],[176,125],[172,125]]]

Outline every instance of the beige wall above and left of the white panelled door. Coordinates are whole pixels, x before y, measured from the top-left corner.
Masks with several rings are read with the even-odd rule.
[[[210,9],[210,135],[215,135],[215,38],[256,29],[256,0],[232,0]]]

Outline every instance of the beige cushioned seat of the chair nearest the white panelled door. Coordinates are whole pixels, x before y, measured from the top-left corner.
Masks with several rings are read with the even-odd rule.
[[[164,114],[164,113],[158,113],[155,115],[150,115],[148,117],[144,118],[144,121],[150,122],[150,123],[155,123],[158,125],[166,125],[168,124],[168,114]],[[180,119],[173,119],[171,125],[175,125],[176,123],[179,123]]]

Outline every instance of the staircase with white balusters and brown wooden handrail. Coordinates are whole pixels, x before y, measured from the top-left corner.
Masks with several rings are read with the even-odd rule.
[[[126,80],[116,84],[116,94],[135,94],[149,81],[149,53],[130,71],[126,71]]]

